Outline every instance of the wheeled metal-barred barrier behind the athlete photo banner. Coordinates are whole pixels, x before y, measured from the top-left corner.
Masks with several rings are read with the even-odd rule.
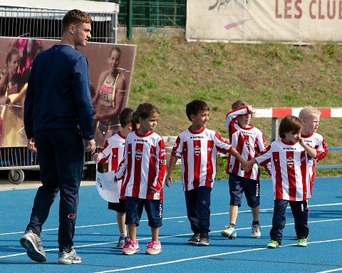
[[[0,6],[0,36],[21,38],[62,38],[62,19],[66,10],[32,9]],[[93,19],[91,41],[116,43],[118,13],[90,12]],[[86,164],[93,164],[91,153],[86,153]],[[38,157],[27,147],[1,147],[0,170],[9,170],[9,180],[19,184],[24,180],[22,169],[39,168]]]

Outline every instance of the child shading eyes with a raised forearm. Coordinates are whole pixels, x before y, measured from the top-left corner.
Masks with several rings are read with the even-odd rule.
[[[235,101],[232,104],[232,111],[227,114],[226,125],[229,132],[229,142],[237,149],[245,160],[256,157],[266,150],[264,135],[261,130],[249,124],[254,105],[249,105],[246,101]],[[265,166],[266,170],[269,168]],[[247,199],[247,204],[251,207],[252,238],[261,236],[259,223],[260,205],[260,170],[258,165],[254,165],[252,171],[244,171],[240,168],[240,163],[229,155],[227,173],[229,173],[229,225],[224,227],[221,235],[235,239],[237,237],[236,223],[239,207],[241,207],[242,193]]]

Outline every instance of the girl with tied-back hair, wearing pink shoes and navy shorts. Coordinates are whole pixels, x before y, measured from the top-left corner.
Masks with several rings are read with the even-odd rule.
[[[123,254],[126,255],[140,250],[137,227],[143,207],[152,232],[152,241],[147,244],[145,253],[158,254],[162,251],[158,235],[159,227],[162,226],[162,186],[166,172],[166,153],[164,140],[153,131],[157,126],[159,113],[158,108],[150,103],[140,104],[133,113],[133,132],[126,138],[124,160],[115,175],[117,180],[125,175],[125,223],[130,235],[123,247]]]

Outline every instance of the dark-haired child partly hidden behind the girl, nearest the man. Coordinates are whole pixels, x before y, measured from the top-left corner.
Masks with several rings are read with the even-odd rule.
[[[121,111],[119,115],[119,121],[122,128],[121,131],[105,140],[105,145],[100,150],[100,153],[95,153],[93,155],[93,160],[97,163],[106,163],[108,161],[108,171],[118,171],[118,167],[123,160],[126,137],[128,133],[132,132],[133,112],[133,108],[124,108]],[[118,180],[118,183],[122,185],[123,180]],[[125,225],[126,197],[125,189],[123,187],[121,187],[119,202],[108,202],[108,209],[116,211],[116,219],[120,231],[120,237],[116,248],[123,249],[128,237]]]

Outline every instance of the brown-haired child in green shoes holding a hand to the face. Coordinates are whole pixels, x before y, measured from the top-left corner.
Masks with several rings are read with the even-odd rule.
[[[311,197],[309,160],[317,158],[317,151],[301,138],[303,123],[293,115],[286,116],[279,125],[279,136],[258,158],[248,161],[271,163],[274,191],[274,213],[272,228],[269,232],[269,248],[279,247],[286,222],[286,206],[289,203],[294,215],[298,246],[306,247],[309,235],[308,203]]]

